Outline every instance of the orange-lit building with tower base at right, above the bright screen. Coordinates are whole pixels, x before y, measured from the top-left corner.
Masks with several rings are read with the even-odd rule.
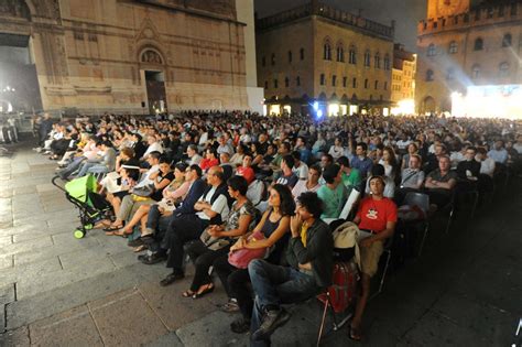
[[[418,23],[417,110],[452,111],[471,87],[522,84],[522,1],[428,0]]]

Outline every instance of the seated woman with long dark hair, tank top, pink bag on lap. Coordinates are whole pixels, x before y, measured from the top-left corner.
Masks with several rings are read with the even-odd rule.
[[[285,242],[289,239],[290,217],[295,212],[295,203],[287,186],[275,184],[270,188],[269,195],[270,208],[263,214],[261,221],[255,226],[252,232],[249,232],[238,239],[230,248],[231,251],[243,248],[248,249],[268,249],[269,262],[280,263]],[[251,234],[261,231],[264,239],[247,241]],[[232,332],[242,334],[250,328],[250,317],[253,310],[252,295],[248,283],[250,276],[248,269],[238,269],[228,262],[228,254],[224,254],[214,261],[214,269],[219,275],[219,280],[225,286],[229,302],[224,306],[224,311],[233,312],[238,307],[242,317],[232,322],[230,328]]]

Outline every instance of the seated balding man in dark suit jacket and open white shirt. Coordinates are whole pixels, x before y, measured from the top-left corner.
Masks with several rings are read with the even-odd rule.
[[[172,273],[160,284],[168,285],[185,276],[183,270],[183,245],[196,240],[209,225],[221,224],[229,213],[229,196],[227,184],[224,181],[224,171],[220,166],[213,166],[207,172],[208,187],[194,205],[195,214],[173,217],[168,230],[167,241],[170,252],[166,267]]]

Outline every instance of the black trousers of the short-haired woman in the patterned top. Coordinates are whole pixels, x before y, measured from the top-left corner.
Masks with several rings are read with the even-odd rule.
[[[224,247],[219,250],[208,249],[205,243],[200,240],[194,241],[187,248],[187,254],[191,257],[191,260],[194,262],[196,272],[194,273],[194,279],[192,280],[191,291],[196,292],[199,286],[208,284],[211,282],[211,278],[208,274],[208,270],[213,265],[214,261],[227,254],[230,247]]]

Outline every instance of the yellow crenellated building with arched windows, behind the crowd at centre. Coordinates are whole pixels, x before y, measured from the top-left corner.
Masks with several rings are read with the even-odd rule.
[[[267,112],[388,112],[393,28],[316,1],[257,22]]]

